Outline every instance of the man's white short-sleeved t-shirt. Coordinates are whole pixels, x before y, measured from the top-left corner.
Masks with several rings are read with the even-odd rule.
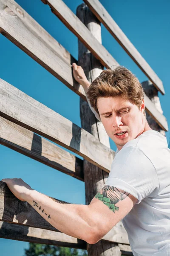
[[[105,183],[138,199],[123,219],[134,256],[170,256],[170,149],[149,130],[117,151]]]

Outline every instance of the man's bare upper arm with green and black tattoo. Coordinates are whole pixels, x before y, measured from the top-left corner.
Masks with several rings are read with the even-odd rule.
[[[114,186],[105,185],[97,193],[89,208],[96,218],[99,239],[130,212],[136,201],[133,195]]]

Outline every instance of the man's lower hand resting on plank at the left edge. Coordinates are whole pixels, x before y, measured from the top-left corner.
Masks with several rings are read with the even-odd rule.
[[[21,201],[27,201],[31,191],[34,190],[22,179],[3,179],[1,181],[5,182],[11,192]]]

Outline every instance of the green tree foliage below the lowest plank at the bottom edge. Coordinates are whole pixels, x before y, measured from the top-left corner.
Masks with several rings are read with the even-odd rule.
[[[85,256],[86,250],[29,243],[24,256]]]

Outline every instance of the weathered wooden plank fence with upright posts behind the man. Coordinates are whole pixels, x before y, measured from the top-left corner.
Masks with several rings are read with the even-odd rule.
[[[161,80],[98,0],[85,0],[96,17],[87,6],[82,5],[77,12],[79,18],[62,0],[42,0],[42,2],[48,4],[52,12],[78,37],[79,64],[84,68],[89,81],[93,81],[99,75],[103,66],[111,68],[113,65],[119,65],[101,44],[101,35],[97,33],[101,21],[154,86],[164,94]],[[85,14],[83,14],[84,8]],[[86,15],[89,15],[88,18]],[[96,34],[92,33],[93,26],[96,26],[94,29]],[[0,0],[0,33],[81,97],[82,121],[80,128],[0,79],[0,144],[85,181],[86,203],[89,204],[96,192],[105,184],[115,152],[109,148],[108,136],[104,132],[102,123],[97,122],[87,107],[82,86],[73,79],[71,63],[77,63],[77,60],[14,0]],[[150,99],[152,100],[152,97]],[[144,95],[147,113],[161,129],[167,131],[166,118],[150,99]],[[87,116],[88,119],[85,118]],[[84,161],[41,136],[79,154],[84,157]],[[84,241],[57,231],[31,205],[15,198],[6,184],[0,181],[0,237],[86,248],[87,244]],[[89,256],[99,256],[103,253],[105,256],[111,254],[120,256],[121,252],[132,255],[127,244],[129,244],[127,233],[120,221],[97,245],[87,245],[87,247]]]

